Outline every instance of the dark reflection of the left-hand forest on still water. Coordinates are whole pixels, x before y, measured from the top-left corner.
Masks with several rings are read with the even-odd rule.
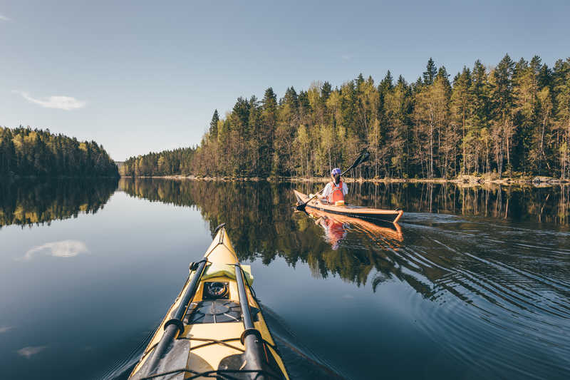
[[[0,183],[0,228],[32,226],[94,214],[103,208],[118,180],[7,180]]]

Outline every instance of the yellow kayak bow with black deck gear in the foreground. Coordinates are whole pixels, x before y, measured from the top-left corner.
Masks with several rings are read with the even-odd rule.
[[[289,375],[225,228],[157,328],[129,379],[286,379]]]

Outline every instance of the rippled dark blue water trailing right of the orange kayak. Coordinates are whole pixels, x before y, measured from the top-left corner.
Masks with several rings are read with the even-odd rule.
[[[465,364],[465,377],[567,378],[570,357],[570,234],[411,213],[403,240],[352,227],[341,246],[369,250],[439,307],[413,305],[420,331]]]

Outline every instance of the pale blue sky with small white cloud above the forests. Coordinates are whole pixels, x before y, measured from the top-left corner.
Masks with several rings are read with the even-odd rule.
[[[214,109],[314,81],[415,81],[480,59],[570,56],[569,1],[0,0],[0,125],[114,160],[196,145]]]

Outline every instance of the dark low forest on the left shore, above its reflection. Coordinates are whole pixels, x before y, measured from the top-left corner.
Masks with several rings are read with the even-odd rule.
[[[118,176],[102,145],[49,130],[0,127],[0,176]]]

